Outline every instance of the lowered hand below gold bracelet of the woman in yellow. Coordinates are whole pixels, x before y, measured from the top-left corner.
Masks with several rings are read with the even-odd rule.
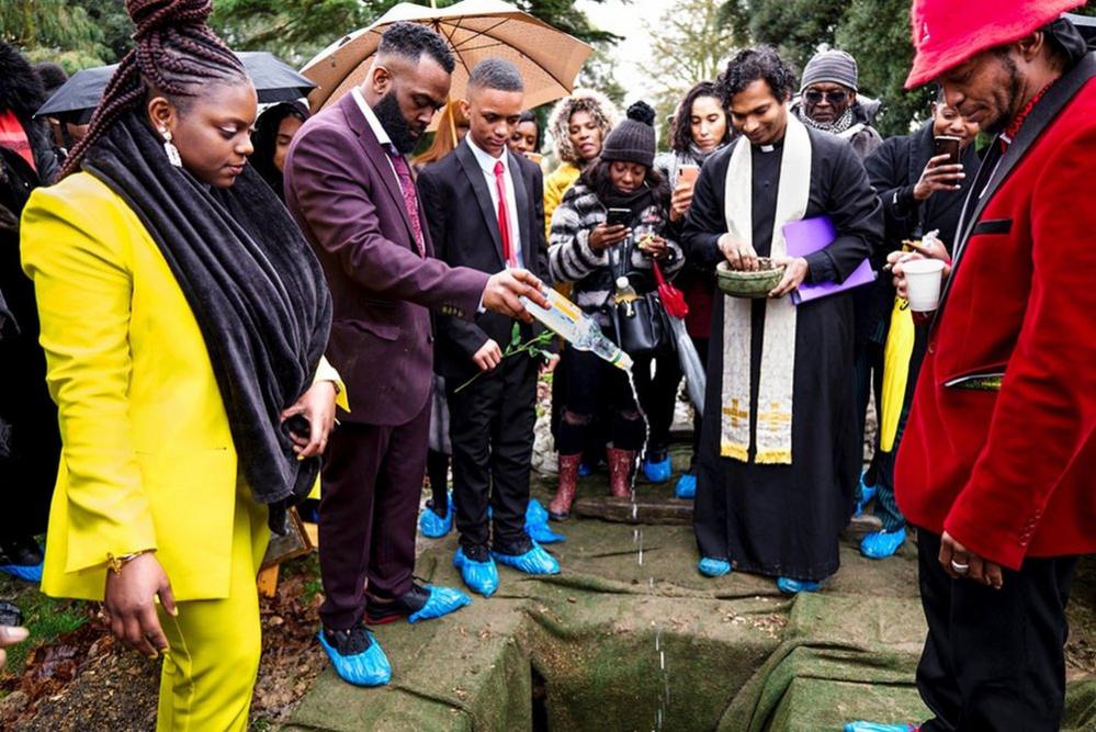
[[[111,632],[149,658],[169,650],[168,639],[156,613],[157,596],[168,615],[177,615],[171,583],[150,552],[123,564],[121,573],[106,571],[103,615]]]

